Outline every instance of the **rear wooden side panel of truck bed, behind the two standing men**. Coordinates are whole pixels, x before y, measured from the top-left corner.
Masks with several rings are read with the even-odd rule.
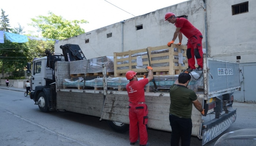
[[[164,131],[172,131],[169,122],[169,93],[145,93],[148,107],[148,127]],[[105,99],[102,119],[129,124],[128,95],[126,91],[108,94]],[[198,98],[203,104],[203,97]],[[201,114],[193,106],[192,135],[197,136],[201,128]]]

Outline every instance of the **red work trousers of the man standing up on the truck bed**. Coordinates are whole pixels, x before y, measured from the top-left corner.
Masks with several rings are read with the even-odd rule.
[[[201,32],[198,32],[196,35],[193,35],[188,39],[187,43],[187,58],[188,58],[188,67],[190,69],[196,69],[195,67],[195,57],[197,65],[203,68],[203,46],[202,46],[203,35]]]

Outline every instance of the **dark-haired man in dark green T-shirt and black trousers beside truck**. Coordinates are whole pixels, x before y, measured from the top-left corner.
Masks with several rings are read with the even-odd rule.
[[[181,73],[170,87],[170,125],[172,127],[171,146],[189,146],[192,133],[192,103],[204,115],[202,104],[197,100],[196,93],[188,89],[191,76]]]

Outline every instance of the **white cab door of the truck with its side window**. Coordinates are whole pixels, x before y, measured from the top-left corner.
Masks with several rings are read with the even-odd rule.
[[[35,89],[36,86],[44,86],[42,85],[44,84],[44,82],[42,82],[43,81],[42,79],[44,78],[44,74],[42,73],[42,70],[41,70],[42,61],[44,60],[36,61],[33,64],[32,73],[34,78],[31,80],[33,90]]]

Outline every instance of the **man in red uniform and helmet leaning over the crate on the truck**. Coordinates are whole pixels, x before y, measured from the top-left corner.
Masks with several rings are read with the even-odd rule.
[[[172,23],[176,26],[176,30],[173,35],[172,41],[167,43],[167,46],[171,46],[175,39],[178,37],[179,43],[178,45],[181,45],[182,41],[182,34],[185,35],[185,37],[188,38],[187,43],[187,58],[188,58],[188,69],[189,71],[192,71],[196,69],[195,67],[195,57],[197,61],[198,68],[196,71],[202,71],[203,70],[203,46],[202,46],[202,39],[203,35],[202,33],[193,26],[188,19],[185,18],[176,18],[175,14],[172,12],[167,12],[165,14],[165,21],[168,21],[169,23]]]

